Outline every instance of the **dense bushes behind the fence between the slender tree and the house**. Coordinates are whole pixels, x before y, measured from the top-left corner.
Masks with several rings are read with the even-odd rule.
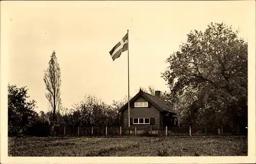
[[[62,109],[63,113],[56,112],[55,127],[105,127],[119,126],[121,115],[118,112],[124,101],[113,101],[108,105],[94,96],[85,96],[84,100],[75,103],[73,108]],[[40,111],[40,118],[46,122],[52,118],[52,111]]]

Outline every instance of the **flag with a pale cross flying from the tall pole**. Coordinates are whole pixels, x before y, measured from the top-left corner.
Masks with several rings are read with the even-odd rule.
[[[119,58],[121,53],[126,50],[128,50],[128,33],[110,51],[110,55],[111,55],[113,61],[116,58]]]

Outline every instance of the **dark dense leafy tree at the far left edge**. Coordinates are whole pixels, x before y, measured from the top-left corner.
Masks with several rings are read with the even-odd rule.
[[[28,89],[8,84],[8,135],[28,134],[37,113],[36,102],[28,101]]]

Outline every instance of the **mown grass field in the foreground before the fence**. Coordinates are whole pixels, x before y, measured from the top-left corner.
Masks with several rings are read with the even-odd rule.
[[[246,136],[9,137],[9,156],[246,156]]]

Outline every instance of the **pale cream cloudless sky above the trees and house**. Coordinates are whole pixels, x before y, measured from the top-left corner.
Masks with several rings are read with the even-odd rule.
[[[165,60],[191,30],[224,22],[248,39],[253,1],[5,1],[1,2],[1,56],[10,84],[27,86],[35,110],[48,111],[44,71],[55,50],[62,106],[86,95],[110,104],[128,93],[127,51],[109,52],[129,30],[130,96],[139,87],[168,89]]]

